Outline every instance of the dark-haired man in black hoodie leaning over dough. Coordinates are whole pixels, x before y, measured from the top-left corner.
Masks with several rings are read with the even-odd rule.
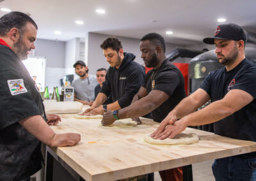
[[[121,42],[115,37],[109,37],[100,45],[110,67],[103,82],[101,91],[91,108],[84,114],[103,114],[104,109],[119,110],[131,104],[133,96],[139,91],[144,81],[145,71],[134,62],[135,55],[125,53]],[[111,94],[113,103],[102,105]]]

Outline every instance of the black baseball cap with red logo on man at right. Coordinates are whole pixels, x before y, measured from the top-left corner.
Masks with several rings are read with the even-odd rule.
[[[204,43],[214,44],[215,39],[220,40],[243,40],[246,42],[246,34],[241,26],[237,24],[221,24],[218,25],[215,35],[212,38],[204,38]]]

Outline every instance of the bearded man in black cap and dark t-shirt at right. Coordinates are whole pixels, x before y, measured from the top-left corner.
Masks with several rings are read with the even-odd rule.
[[[215,134],[256,141],[256,64],[244,55],[245,41],[236,24],[221,24],[213,38],[204,39],[216,46],[217,58],[225,66],[183,99],[151,134],[153,138],[173,138],[187,126],[214,122]],[[210,105],[195,112],[210,99]],[[212,171],[216,180],[256,180],[256,152],[216,159]]]

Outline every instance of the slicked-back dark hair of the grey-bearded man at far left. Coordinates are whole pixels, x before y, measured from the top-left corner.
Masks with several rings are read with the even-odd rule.
[[[34,20],[28,15],[19,11],[12,11],[3,15],[0,18],[0,36],[6,36],[6,34],[13,28],[19,29],[20,34],[23,34],[25,29],[24,26],[30,22],[37,29],[37,25]]]

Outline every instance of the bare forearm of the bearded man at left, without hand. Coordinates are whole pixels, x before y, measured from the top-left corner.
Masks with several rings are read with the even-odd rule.
[[[33,134],[38,140],[46,145],[52,145],[55,133],[40,115],[34,115],[27,119],[20,120],[19,124],[29,133]]]

